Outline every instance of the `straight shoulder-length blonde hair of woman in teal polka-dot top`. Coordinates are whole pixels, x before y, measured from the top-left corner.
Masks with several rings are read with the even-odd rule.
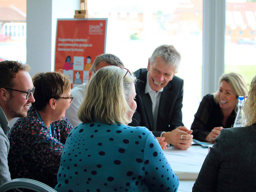
[[[136,77],[116,66],[99,69],[89,82],[86,96],[78,109],[78,118],[84,123],[95,121],[107,124],[128,124],[129,96]]]

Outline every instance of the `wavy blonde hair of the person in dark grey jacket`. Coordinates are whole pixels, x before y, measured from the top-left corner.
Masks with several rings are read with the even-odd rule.
[[[243,123],[247,126],[256,123],[256,76],[253,77],[247,99],[244,101]]]

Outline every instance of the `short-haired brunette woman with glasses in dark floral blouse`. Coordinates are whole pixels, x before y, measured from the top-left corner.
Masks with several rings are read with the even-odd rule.
[[[38,73],[32,80],[36,88],[31,94],[36,101],[27,117],[11,128],[8,165],[12,179],[29,178],[54,187],[61,152],[72,129],[65,118],[73,99],[70,81],[59,72]]]

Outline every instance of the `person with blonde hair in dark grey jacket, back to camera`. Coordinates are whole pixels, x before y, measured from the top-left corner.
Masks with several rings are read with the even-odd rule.
[[[193,192],[255,191],[256,76],[244,102],[245,127],[222,129],[210,148]]]

